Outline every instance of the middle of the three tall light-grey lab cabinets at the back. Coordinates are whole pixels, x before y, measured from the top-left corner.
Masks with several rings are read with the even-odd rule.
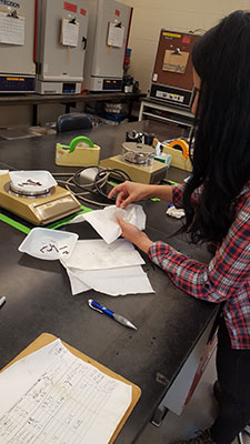
[[[84,64],[89,1],[39,0],[37,92],[79,93]]]

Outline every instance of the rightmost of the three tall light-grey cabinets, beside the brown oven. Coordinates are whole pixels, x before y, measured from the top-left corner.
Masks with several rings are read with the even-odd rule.
[[[131,11],[116,0],[90,1],[84,90],[121,90]]]

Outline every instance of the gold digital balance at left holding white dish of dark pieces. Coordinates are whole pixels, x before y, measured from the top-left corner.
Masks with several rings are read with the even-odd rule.
[[[36,225],[46,225],[81,209],[73,194],[58,186],[48,171],[0,175],[0,206]]]

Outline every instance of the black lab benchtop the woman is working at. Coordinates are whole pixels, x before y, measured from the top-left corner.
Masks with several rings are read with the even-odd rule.
[[[142,121],[99,127],[84,134],[101,147],[101,158],[107,158],[120,152],[126,131],[134,128],[154,132],[161,140],[173,137],[177,131],[166,124]],[[54,165],[54,150],[57,141],[67,144],[76,135],[80,134],[2,141],[0,167],[74,171]],[[166,240],[194,259],[209,261],[206,249],[190,245],[182,235],[170,236],[181,222],[166,216],[166,202],[148,201],[143,206],[148,215],[146,231],[152,240]],[[66,225],[62,230],[78,233],[79,239],[98,236],[87,223]],[[72,296],[67,273],[59,261],[41,261],[18,252],[23,239],[23,233],[0,222],[0,295],[7,296],[7,303],[0,310],[0,369],[42,332],[54,334],[141,387],[141,398],[116,441],[133,443],[151,420],[217,306],[180,291],[146,254],[142,254],[143,269],[156,293],[110,297],[88,291]],[[122,313],[138,331],[124,329],[108,316],[91,311],[87,304],[89,297]]]

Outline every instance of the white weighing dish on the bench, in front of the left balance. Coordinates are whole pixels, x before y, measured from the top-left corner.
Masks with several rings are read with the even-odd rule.
[[[29,232],[18,250],[47,261],[66,259],[72,253],[78,238],[78,234],[67,231],[36,228]]]

